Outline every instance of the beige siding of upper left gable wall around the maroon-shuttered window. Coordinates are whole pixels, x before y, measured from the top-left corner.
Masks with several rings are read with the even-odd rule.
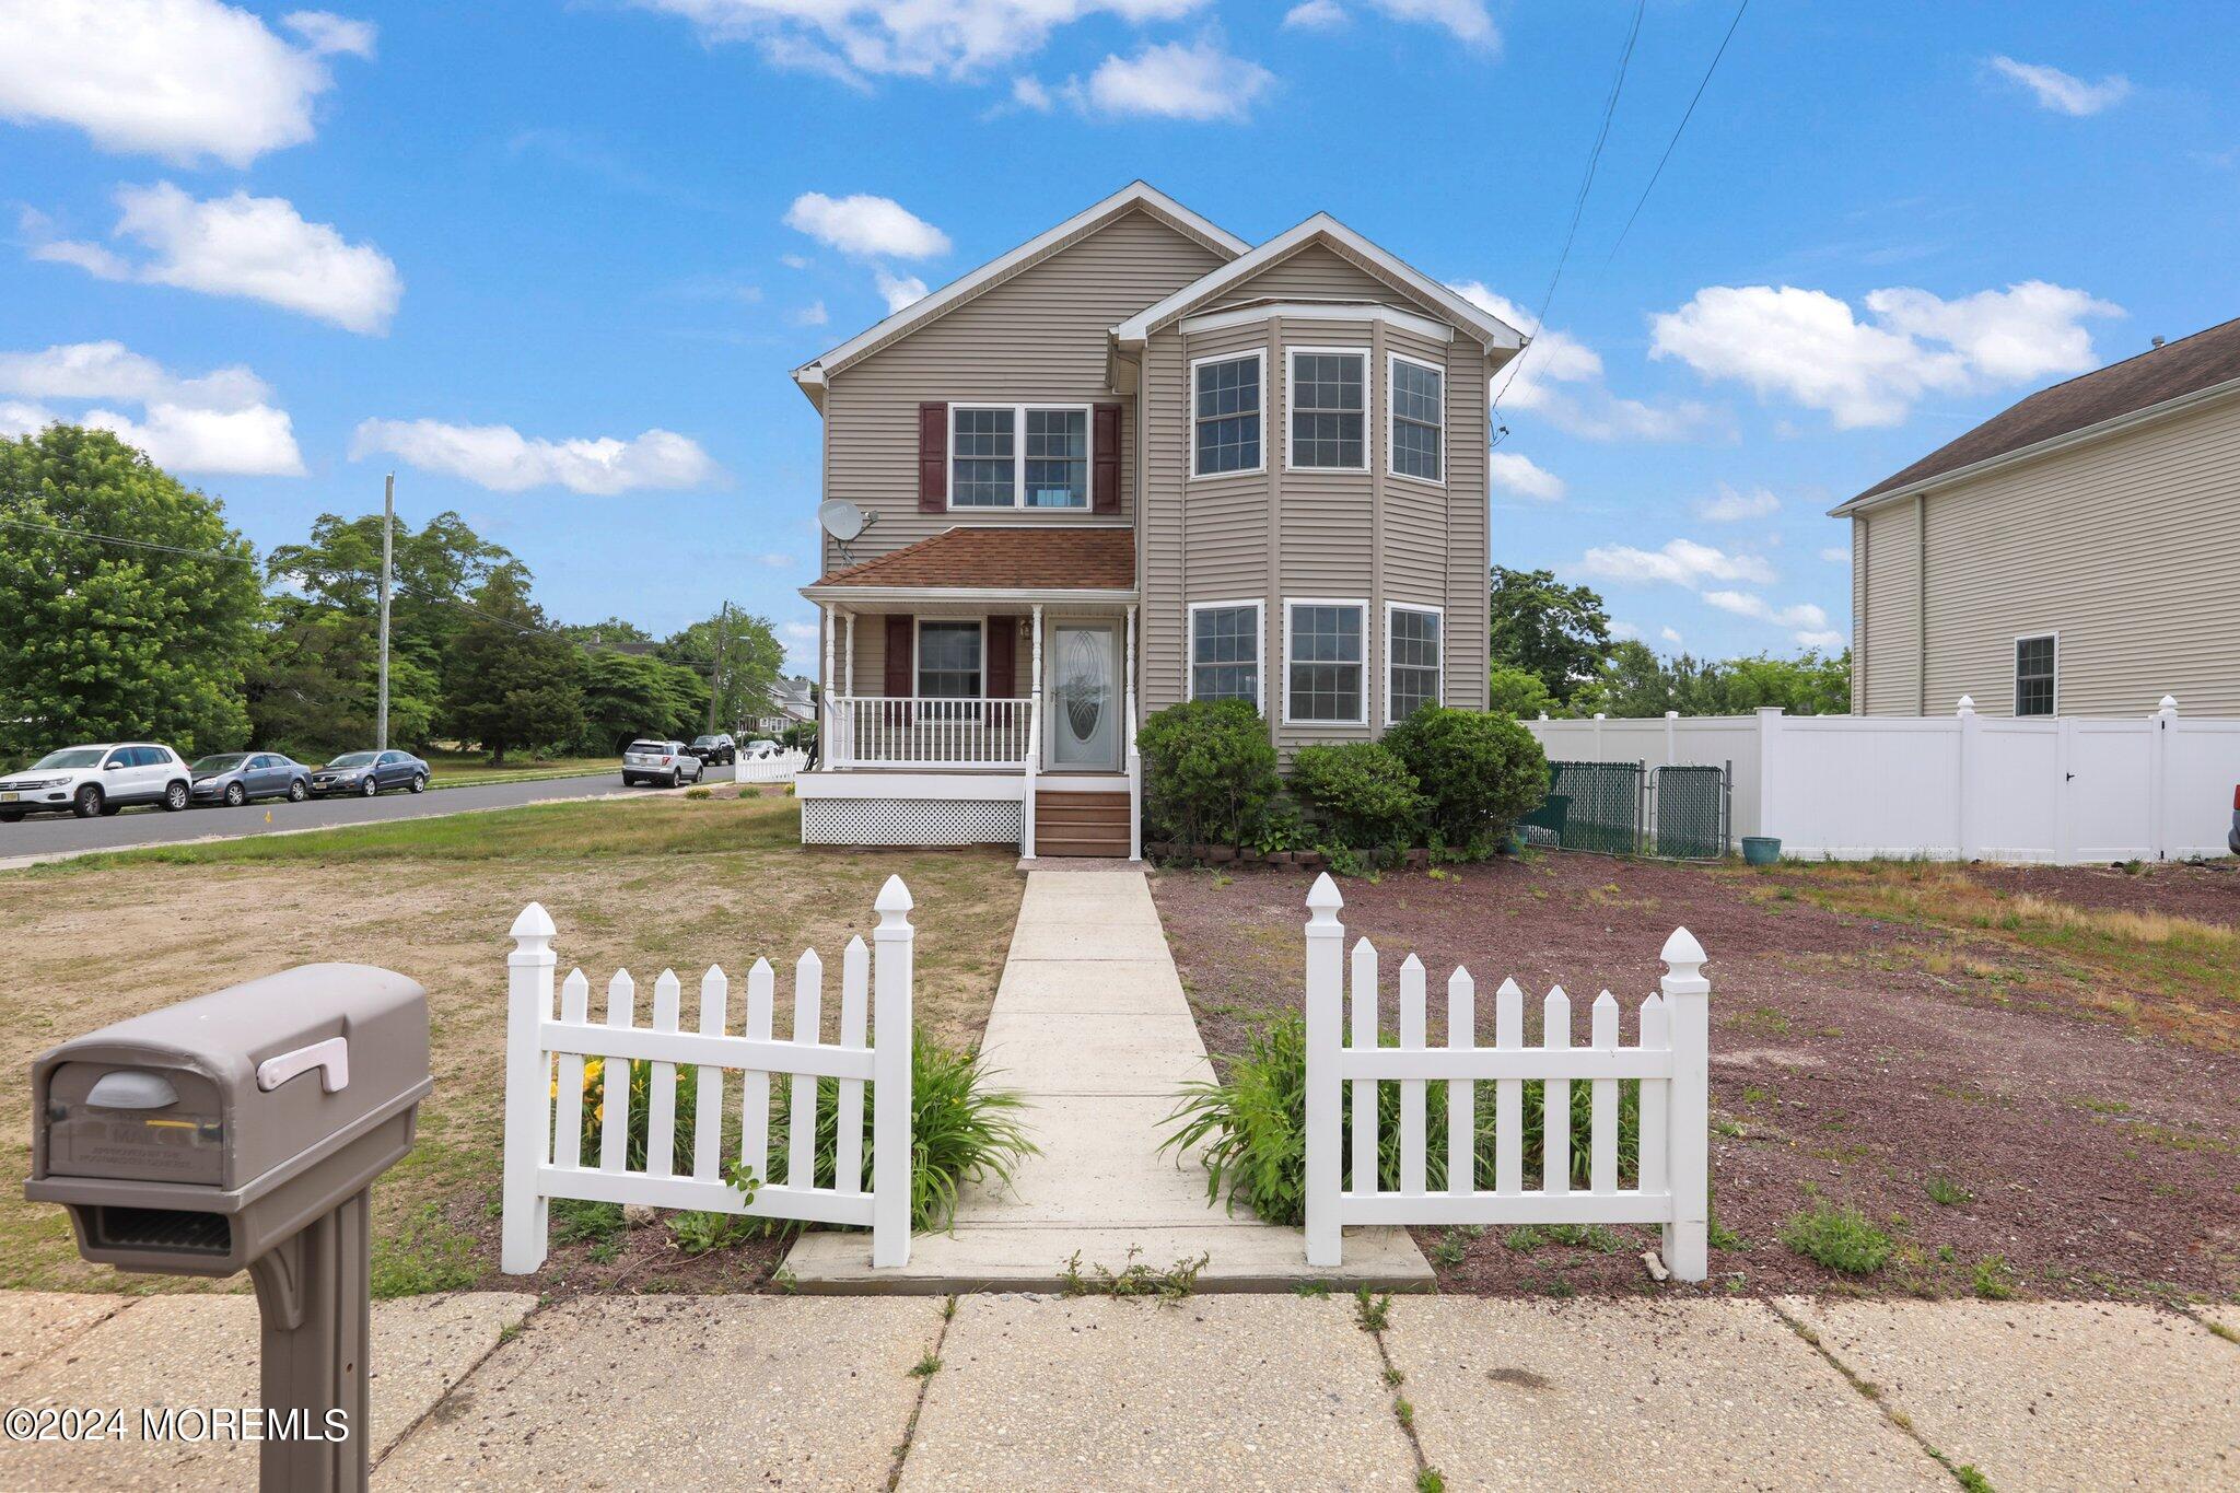
[[[909,336],[844,367],[824,394],[824,497],[878,515],[856,560],[956,524],[1082,524],[1133,510],[1133,398],[1109,389],[1107,329],[1221,264],[1149,213],[1127,213]],[[1120,515],[918,513],[918,403],[1120,403]],[[824,542],[824,566],[838,564]]]

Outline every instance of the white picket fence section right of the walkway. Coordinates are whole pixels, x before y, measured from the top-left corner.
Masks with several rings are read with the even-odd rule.
[[[1664,1265],[1702,1280],[1709,1227],[1711,985],[1705,954],[1687,929],[1664,940],[1660,994],[1642,1001],[1635,1045],[1620,1045],[1617,996],[1602,992],[1586,1048],[1570,1045],[1570,996],[1543,1003],[1539,1048],[1523,1041],[1523,992],[1494,992],[1494,1045],[1476,1045],[1476,983],[1447,980],[1447,1045],[1425,1034],[1425,969],[1400,965],[1400,1045],[1378,1045],[1378,951],[1353,945],[1351,1036],[1346,1032],[1344,898],[1328,875],[1306,898],[1306,1260],[1342,1265],[1344,1224],[1662,1224]],[[1620,1083],[1640,1081],[1640,1148],[1633,1186],[1620,1186]],[[1427,1086],[1447,1083],[1447,1189],[1429,1189]],[[1478,1175],[1476,1086],[1494,1086],[1494,1175]],[[1546,1083],[1543,1166],[1523,1177],[1523,1086]],[[1378,1186],[1378,1083],[1400,1086],[1400,1186]],[[1590,1164],[1572,1189],[1572,1083],[1586,1083]],[[1351,1166],[1342,1157],[1342,1106],[1351,1088]],[[1344,1168],[1344,1177],[1342,1177]]]

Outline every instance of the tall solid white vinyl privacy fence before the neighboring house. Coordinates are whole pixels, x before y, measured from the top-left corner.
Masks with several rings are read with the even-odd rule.
[[[2224,855],[2240,721],[2155,714],[1525,721],[1550,759],[1734,766],[1734,833],[1783,855],[2081,864]]]

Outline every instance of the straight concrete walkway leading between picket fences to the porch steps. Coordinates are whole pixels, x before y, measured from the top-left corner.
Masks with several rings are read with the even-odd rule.
[[[800,1289],[1060,1289],[1075,1253],[1082,1274],[1203,1256],[1201,1292],[1429,1289],[1404,1229],[1360,1229],[1344,1269],[1317,1271],[1297,1229],[1207,1206],[1196,1159],[1158,1151],[1183,1083],[1212,1065],[1142,871],[1028,873],[981,1052],[1026,1092],[1042,1155],[1010,1191],[968,1195],[954,1233],[916,1238],[903,1271],[871,1271],[860,1236],[804,1233],[786,1258]]]

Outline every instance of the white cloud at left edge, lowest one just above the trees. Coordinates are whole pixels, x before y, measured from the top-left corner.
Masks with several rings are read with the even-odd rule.
[[[0,428],[38,430],[47,421],[114,430],[175,472],[302,475],[287,410],[273,407],[271,385],[246,367],[186,378],[123,342],[63,342],[43,351],[0,354],[0,394],[38,403],[0,407]],[[76,414],[52,403],[114,401],[141,405],[132,419],[90,407]]]

